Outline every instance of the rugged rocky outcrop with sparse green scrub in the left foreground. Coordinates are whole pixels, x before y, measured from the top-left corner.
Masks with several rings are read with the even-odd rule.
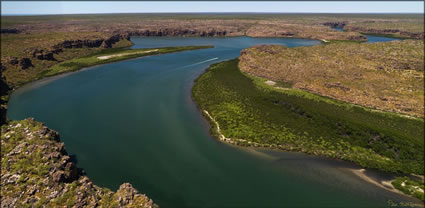
[[[117,192],[94,185],[39,122],[12,121],[1,131],[2,207],[158,207],[128,183]]]

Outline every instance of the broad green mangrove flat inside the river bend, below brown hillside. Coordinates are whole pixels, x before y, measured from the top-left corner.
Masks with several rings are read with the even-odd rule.
[[[424,120],[377,112],[298,89],[275,89],[238,68],[212,65],[193,98],[225,137],[339,158],[394,173],[424,174]],[[217,136],[216,128],[212,128]],[[242,139],[242,140],[239,140]]]

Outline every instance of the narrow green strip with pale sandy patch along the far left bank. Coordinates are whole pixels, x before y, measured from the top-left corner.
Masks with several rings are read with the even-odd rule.
[[[157,49],[108,49],[86,57],[76,58],[69,61],[56,64],[44,71],[42,71],[38,78],[54,76],[57,74],[76,71],[84,67],[106,64],[115,61],[121,61],[125,59],[131,59],[142,56],[158,55],[164,53],[173,53],[186,50],[198,50],[211,48],[213,46],[182,46],[182,47],[166,47]],[[99,59],[99,57],[111,56],[108,59]]]

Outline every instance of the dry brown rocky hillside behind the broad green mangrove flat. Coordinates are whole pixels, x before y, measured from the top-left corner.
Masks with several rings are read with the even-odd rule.
[[[256,46],[239,67],[294,88],[376,109],[424,116],[424,42]]]

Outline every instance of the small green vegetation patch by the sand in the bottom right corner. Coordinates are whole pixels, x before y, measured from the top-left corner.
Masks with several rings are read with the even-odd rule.
[[[393,182],[393,186],[407,195],[414,196],[422,201],[424,198],[424,182],[412,180],[408,177],[397,177]]]

